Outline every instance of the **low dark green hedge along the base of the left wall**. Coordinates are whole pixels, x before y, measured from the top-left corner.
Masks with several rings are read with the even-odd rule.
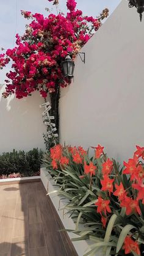
[[[32,176],[40,170],[41,158],[43,152],[34,148],[29,152],[16,151],[6,152],[0,155],[0,175],[9,175],[13,172]]]

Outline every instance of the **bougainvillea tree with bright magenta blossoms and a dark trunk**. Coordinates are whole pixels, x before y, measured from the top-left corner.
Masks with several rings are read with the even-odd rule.
[[[52,2],[52,0],[48,0]],[[53,1],[57,4],[59,1]],[[74,59],[82,46],[101,26],[109,10],[105,9],[97,18],[83,16],[76,10],[74,0],[67,1],[67,15],[59,12],[44,17],[40,13],[21,11],[24,18],[32,19],[26,25],[24,35],[16,34],[16,46],[0,55],[0,68],[12,60],[12,70],[7,73],[6,88],[3,97],[15,93],[20,99],[32,95],[35,90],[43,98],[51,98],[51,114],[55,116],[59,128],[59,89],[70,84],[62,74],[61,63],[67,54]]]

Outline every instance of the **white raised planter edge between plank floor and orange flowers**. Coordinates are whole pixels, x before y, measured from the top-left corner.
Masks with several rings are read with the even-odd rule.
[[[41,178],[41,181],[43,182],[43,185],[45,186],[46,191],[53,192],[59,189],[56,186],[54,186],[54,181],[52,180],[51,175],[48,174],[48,171],[46,171],[45,168],[41,168],[40,178]],[[49,197],[51,198],[52,203],[54,204],[54,207],[56,208],[56,211],[59,214],[59,217],[65,229],[75,230],[76,224],[74,224],[73,219],[71,219],[70,215],[64,214],[63,216],[63,210],[59,210],[59,208],[65,207],[65,202],[63,202],[62,200],[60,201],[62,197],[58,196],[57,193],[50,194]],[[59,207],[59,202],[60,202],[60,207]],[[74,233],[71,233],[71,232],[67,232],[67,233],[68,233],[68,236],[70,236],[70,239],[79,237]],[[85,251],[87,250],[88,244],[90,244],[90,241],[81,240],[81,241],[74,241],[72,243],[74,245],[74,248],[76,249],[77,254],[79,256],[83,256],[85,254]],[[98,256],[98,254],[96,255]]]

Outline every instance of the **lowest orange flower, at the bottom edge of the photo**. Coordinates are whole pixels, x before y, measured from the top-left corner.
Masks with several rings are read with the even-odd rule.
[[[126,236],[124,239],[123,249],[125,250],[125,254],[135,252],[135,254],[140,255],[139,244],[137,241],[132,240],[131,236]]]

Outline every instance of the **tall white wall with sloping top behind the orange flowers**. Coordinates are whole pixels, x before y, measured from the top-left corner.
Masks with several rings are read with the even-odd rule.
[[[106,148],[126,160],[144,146],[144,15],[122,0],[78,57],[74,83],[62,89],[60,141]]]

